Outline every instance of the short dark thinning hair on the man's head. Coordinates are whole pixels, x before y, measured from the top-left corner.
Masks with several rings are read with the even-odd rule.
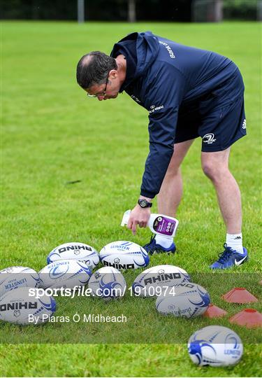
[[[117,69],[117,63],[113,57],[101,51],[92,51],[78,62],[76,80],[84,89],[94,84],[103,84],[111,69]]]

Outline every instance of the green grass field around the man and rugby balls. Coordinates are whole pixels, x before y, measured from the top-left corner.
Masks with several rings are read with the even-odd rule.
[[[228,315],[235,314],[245,306],[230,306],[220,298],[233,284],[245,284],[261,295],[259,23],[3,22],[1,269],[24,265],[39,270],[52,248],[66,241],[82,241],[100,251],[110,241],[126,239],[143,245],[150,238],[149,230],[138,230],[133,237],[119,227],[123,212],[134,206],[139,195],[148,151],[147,111],[126,94],[110,102],[87,99],[75,83],[75,66],[82,55],[90,50],[110,52],[115,41],[136,30],[152,30],[214,50],[233,59],[242,71],[248,137],[233,146],[231,169],[242,191],[244,244],[250,261],[240,274],[209,272],[208,265],[222,251],[225,230],[212,185],[201,172],[199,140],[182,167],[178,253],[175,258],[161,255],[150,260],[150,266],[170,263],[186,269],[208,288],[212,302],[226,308]],[[129,284],[136,275],[125,274]],[[1,339],[10,342],[0,349],[2,376],[260,375],[257,330],[230,325],[245,340],[245,354],[235,367],[200,368],[189,360],[187,337],[205,325],[229,326],[228,318],[189,322],[163,318],[156,314],[154,300],[129,296],[108,305],[86,298],[57,302],[57,315],[123,311],[130,318],[129,328],[71,323],[21,328],[1,323]],[[20,344],[23,340],[29,344]],[[165,344],[170,340],[180,343]],[[45,344],[30,344],[41,341]],[[87,342],[96,344],[83,344]]]

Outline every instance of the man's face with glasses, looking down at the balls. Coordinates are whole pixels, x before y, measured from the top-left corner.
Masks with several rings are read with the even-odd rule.
[[[105,99],[115,99],[119,94],[120,89],[119,78],[117,71],[112,69],[108,73],[108,81],[103,84],[94,84],[92,87],[87,88],[85,91],[88,94],[95,95],[99,101]]]

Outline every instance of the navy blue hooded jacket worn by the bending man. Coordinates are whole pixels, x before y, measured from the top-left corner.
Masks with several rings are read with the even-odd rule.
[[[111,56],[120,54],[126,57],[126,79],[119,92],[149,111],[150,153],[140,193],[154,198],[173,155],[178,111],[203,112],[234,101],[242,93],[242,78],[230,59],[151,31],[115,43]]]

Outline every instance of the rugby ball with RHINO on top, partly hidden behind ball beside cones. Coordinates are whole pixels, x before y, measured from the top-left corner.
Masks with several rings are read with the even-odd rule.
[[[140,273],[133,281],[132,290],[138,297],[160,296],[169,286],[188,282],[189,274],[175,265],[156,265]]]

